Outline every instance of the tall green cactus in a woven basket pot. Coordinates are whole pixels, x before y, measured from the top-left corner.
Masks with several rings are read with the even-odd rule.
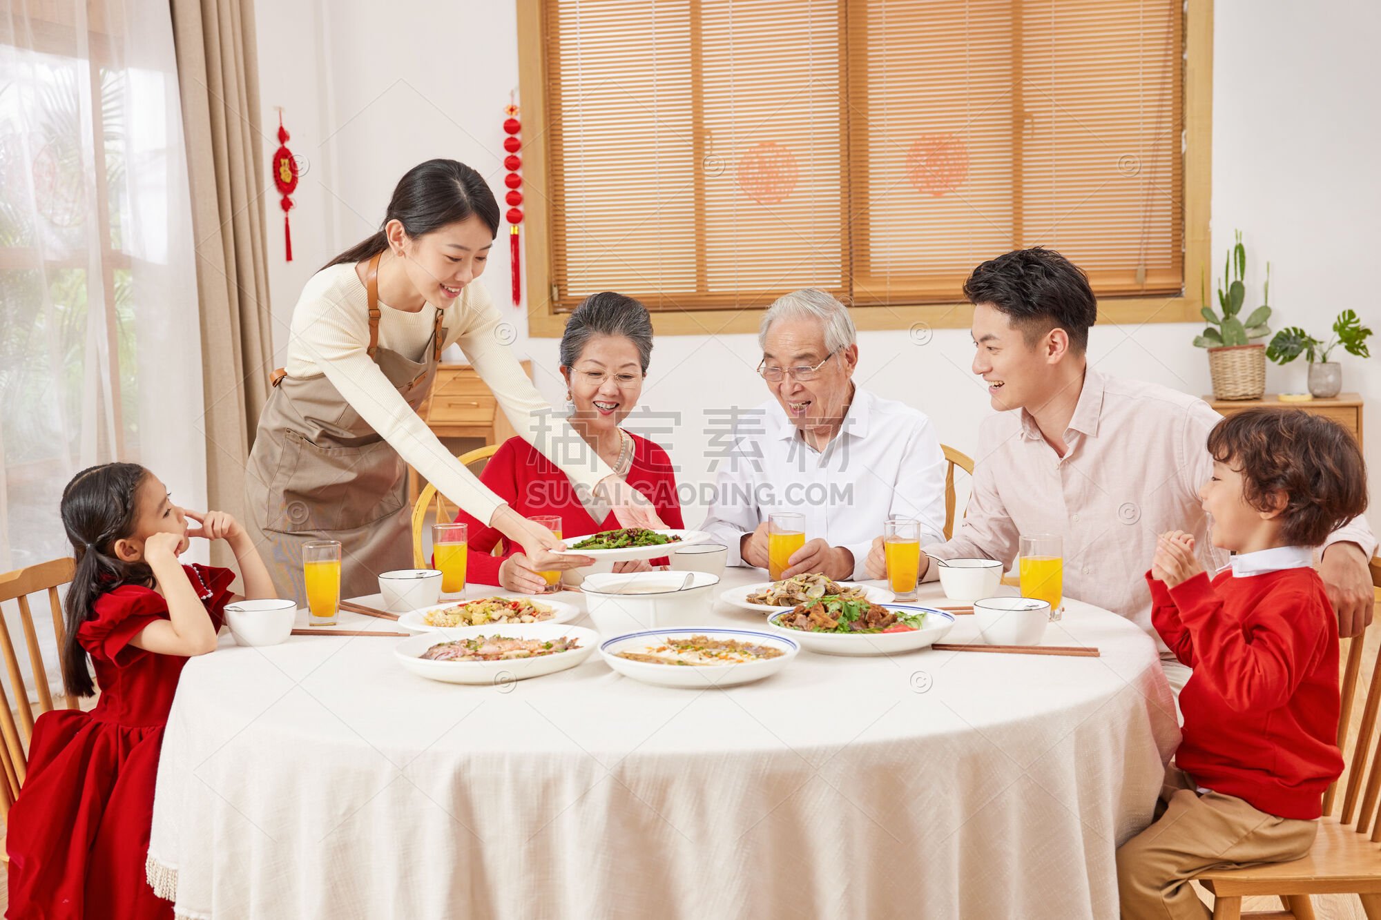
[[[1257,340],[1271,334],[1266,325],[1271,319],[1271,262],[1266,262],[1261,307],[1243,320],[1246,275],[1247,249],[1242,245],[1242,231],[1237,231],[1236,243],[1228,250],[1222,267],[1222,280],[1218,282],[1218,309],[1222,316],[1208,307],[1206,291],[1206,303],[1199,312],[1208,320],[1208,326],[1203,334],[1195,336],[1195,345],[1208,349],[1208,374],[1213,377],[1213,395],[1217,399],[1259,399],[1266,392],[1266,347]]]

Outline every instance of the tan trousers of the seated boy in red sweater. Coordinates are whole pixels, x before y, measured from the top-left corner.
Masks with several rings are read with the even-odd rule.
[[[1124,920],[1208,920],[1189,880],[1207,869],[1288,862],[1309,852],[1319,823],[1276,818],[1236,796],[1195,792],[1189,774],[1166,768],[1157,818],[1117,850]]]

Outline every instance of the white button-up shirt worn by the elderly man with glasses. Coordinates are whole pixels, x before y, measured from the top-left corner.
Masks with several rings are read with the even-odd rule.
[[[840,432],[815,450],[771,399],[739,413],[715,457],[715,495],[702,526],[744,565],[739,543],[769,514],[805,515],[805,539],[824,537],[853,554],[853,577],[867,577],[873,539],[888,515],[921,522],[921,543],[943,540],[945,453],[921,412],[862,387]]]

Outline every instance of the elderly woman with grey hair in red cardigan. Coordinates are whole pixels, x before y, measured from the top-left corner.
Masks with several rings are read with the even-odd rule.
[[[561,337],[561,376],[566,380],[570,427],[584,439],[591,457],[602,459],[628,485],[648,496],[668,528],[681,528],[677,479],[667,452],[619,427],[638,405],[650,359],[652,320],[648,308],[613,291],[587,297],[570,314]],[[620,526],[609,506],[588,493],[581,495],[583,490],[577,490],[566,474],[522,438],[510,438],[500,445],[479,481],[525,518],[559,517],[561,537],[568,544],[573,537]],[[545,588],[545,580],[521,547],[504,542],[499,530],[464,511],[456,521],[470,525],[470,582],[499,584],[523,594]],[[503,554],[493,555],[492,550],[501,542]],[[615,571],[646,565],[626,562]]]

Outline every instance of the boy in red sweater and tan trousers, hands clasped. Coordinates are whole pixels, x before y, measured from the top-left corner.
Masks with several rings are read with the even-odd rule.
[[[1235,555],[1210,580],[1193,539],[1172,530],[1146,573],[1152,622],[1193,675],[1156,821],[1117,851],[1121,916],[1134,920],[1208,920],[1190,879],[1308,854],[1342,772],[1338,623],[1309,547],[1366,510],[1362,453],[1341,425],[1298,409],[1225,419],[1208,450],[1199,497],[1214,546]]]

